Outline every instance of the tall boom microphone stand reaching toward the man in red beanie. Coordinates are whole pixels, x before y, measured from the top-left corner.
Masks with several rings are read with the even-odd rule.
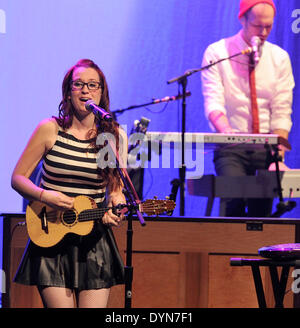
[[[179,180],[180,180],[180,216],[184,216],[185,213],[185,177],[186,177],[186,165],[185,165],[185,132],[186,132],[186,87],[188,82],[188,76],[201,72],[203,70],[209,69],[210,67],[224,61],[229,60],[231,58],[251,53],[253,50],[252,48],[247,48],[239,53],[231,55],[227,58],[219,59],[215,62],[211,61],[210,64],[196,68],[187,70],[184,74],[170,79],[167,81],[167,84],[171,84],[174,82],[178,82],[179,86],[182,88],[182,126],[181,126],[181,167],[179,168]]]

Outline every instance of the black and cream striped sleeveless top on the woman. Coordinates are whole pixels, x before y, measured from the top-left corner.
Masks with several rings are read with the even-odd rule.
[[[41,187],[70,197],[85,195],[96,203],[105,199],[105,187],[97,170],[97,149],[91,140],[79,140],[61,129],[44,157]]]

